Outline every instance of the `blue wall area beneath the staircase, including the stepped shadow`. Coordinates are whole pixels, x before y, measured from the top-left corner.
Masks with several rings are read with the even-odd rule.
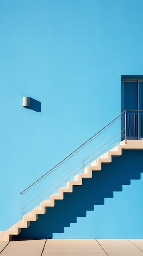
[[[123,150],[15,238],[143,238],[142,195],[143,150]]]

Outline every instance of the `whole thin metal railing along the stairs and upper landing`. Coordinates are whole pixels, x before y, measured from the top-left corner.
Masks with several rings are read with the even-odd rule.
[[[131,112],[131,113],[130,113]],[[130,118],[131,115],[131,118]],[[137,115],[137,116],[136,116]],[[122,119],[124,118],[124,119]],[[105,146],[106,144],[108,144],[112,139],[114,139],[115,137],[117,137],[117,135],[115,135],[113,138],[111,138],[108,142],[106,142],[105,144],[103,144],[100,148],[98,148],[94,153],[90,154],[88,157],[85,158],[84,156],[84,147],[87,146],[88,144],[90,144],[93,140],[95,140],[97,137],[99,137],[103,132],[105,132],[107,129],[109,129],[111,126],[113,126],[117,121],[119,120],[124,120],[123,122],[121,121],[121,131],[117,134],[119,135],[121,133],[121,140],[125,139],[130,139],[130,137],[137,137],[138,139],[140,139],[140,137],[143,138],[143,110],[124,110],[120,115],[118,115],[116,118],[114,118],[112,121],[110,121],[110,123],[108,123],[106,126],[104,126],[101,130],[99,130],[97,133],[95,133],[92,137],[90,137],[90,139],[86,140],[83,144],[81,144],[78,148],[76,148],[72,153],[70,153],[67,157],[65,157],[62,161],[60,161],[58,164],[56,164],[53,168],[51,168],[49,171],[47,171],[44,175],[42,175],[39,179],[37,179],[35,182],[33,182],[30,186],[28,186],[26,189],[24,189],[20,194],[21,194],[21,217],[23,216],[23,214],[27,211],[23,212],[23,209],[25,207],[27,207],[29,204],[31,204],[31,202],[35,201],[35,199],[37,199],[40,195],[42,195],[43,193],[45,193],[45,191],[47,191],[49,188],[51,188],[54,184],[56,184],[57,182],[59,182],[59,180],[62,180],[66,175],[68,175],[71,171],[73,171],[77,166],[79,166],[80,164],[82,164],[82,167],[80,167],[77,171],[79,171],[80,169],[84,169],[86,167],[86,165],[91,162],[93,159],[95,159],[95,157],[93,159],[90,159],[89,162],[85,162],[89,157],[91,157],[93,154],[95,154],[99,149],[103,148],[103,146]],[[133,124],[134,123],[134,124]],[[134,127],[133,127],[134,125]],[[131,132],[130,132],[131,130]],[[137,133],[136,133],[137,130]],[[131,134],[131,135],[130,135]],[[118,141],[119,139],[117,139]],[[114,141],[116,142],[116,141]],[[114,142],[112,144],[114,144]],[[112,144],[110,144],[107,148],[109,148]],[[102,150],[99,154],[103,153],[105,151],[105,149]],[[44,180],[49,174],[53,173],[57,168],[59,168],[60,166],[62,166],[63,164],[65,164],[67,161],[69,161],[69,159],[71,157],[73,157],[74,155],[76,155],[80,150],[83,150],[83,160],[82,162],[80,162],[77,166],[74,166],[74,168],[69,171],[68,173],[66,173],[66,175],[64,175],[62,178],[60,178],[57,182],[55,182],[52,186],[50,186],[48,189],[46,189],[45,191],[43,191],[42,193],[40,193],[40,195],[38,195],[36,198],[34,198],[31,202],[29,202],[28,204],[26,204],[23,207],[23,195],[28,192],[29,190],[31,190],[34,186],[36,186],[38,183],[42,182],[42,180]],[[98,154],[98,155],[99,155]],[[97,156],[98,156],[97,155]],[[96,156],[96,157],[97,157]],[[77,173],[77,171],[75,173]],[[74,173],[73,173],[74,174]],[[72,174],[72,175],[73,175]],[[62,183],[61,183],[62,184]],[[59,186],[59,185],[58,185]],[[58,187],[57,186],[57,187]],[[57,188],[56,187],[56,188]],[[52,190],[53,191],[53,190]],[[51,192],[50,192],[51,193]],[[49,193],[48,193],[49,194]],[[46,195],[44,195],[45,197]],[[44,198],[43,197],[43,198]],[[39,201],[38,201],[39,202]],[[35,203],[37,204],[37,202]],[[35,205],[34,204],[34,205]],[[30,207],[31,208],[31,207]],[[29,208],[29,209],[30,209]],[[29,210],[28,209],[28,210]]]

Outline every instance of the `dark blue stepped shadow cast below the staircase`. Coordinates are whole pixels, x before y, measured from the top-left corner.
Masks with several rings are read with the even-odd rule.
[[[15,239],[46,239],[53,233],[63,233],[64,227],[76,223],[77,217],[86,217],[94,205],[104,204],[105,198],[113,198],[114,191],[122,191],[122,185],[130,180],[140,180],[143,150],[123,150],[120,157],[112,157],[110,164],[102,164],[101,171],[93,171],[92,178],[84,178],[82,186],[73,186],[73,193],[64,193],[63,200],[56,200],[55,207],[48,207],[37,221],[22,229]]]

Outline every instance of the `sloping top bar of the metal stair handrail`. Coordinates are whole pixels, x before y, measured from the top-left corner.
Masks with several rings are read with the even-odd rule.
[[[46,176],[46,174],[50,173],[55,167],[57,167],[59,164],[61,164],[62,162],[64,162],[64,160],[66,160],[68,157],[70,157],[70,155],[72,155],[73,153],[75,153],[79,148],[83,147],[88,141],[90,141],[93,137],[95,137],[97,134],[99,134],[99,132],[101,132],[102,130],[104,130],[107,126],[109,126],[112,122],[114,122],[118,117],[120,117],[121,115],[123,115],[127,110],[124,110],[120,115],[118,115],[116,118],[114,118],[112,121],[110,121],[110,123],[108,123],[106,126],[104,126],[101,130],[99,130],[98,132],[95,133],[95,135],[93,135],[92,137],[90,137],[88,140],[86,140],[83,144],[81,144],[78,148],[76,148],[72,153],[70,153],[67,157],[65,157],[62,161],[60,161],[58,164],[56,164],[53,168],[51,168],[49,171],[47,171],[44,175],[42,175],[40,178],[38,178],[35,182],[33,182],[31,185],[29,185],[26,189],[24,189],[22,192],[20,192],[20,194],[22,194],[24,191],[26,191],[27,189],[29,189],[32,185],[34,185],[36,182],[38,182],[39,180],[41,180],[44,176]],[[131,110],[128,110],[131,111]],[[132,110],[132,111],[137,111],[137,110]]]

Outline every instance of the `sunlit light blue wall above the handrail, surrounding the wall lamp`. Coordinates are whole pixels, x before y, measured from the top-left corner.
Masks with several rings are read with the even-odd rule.
[[[0,230],[20,220],[23,189],[121,113],[121,75],[143,75],[142,10],[142,0],[0,1]]]

